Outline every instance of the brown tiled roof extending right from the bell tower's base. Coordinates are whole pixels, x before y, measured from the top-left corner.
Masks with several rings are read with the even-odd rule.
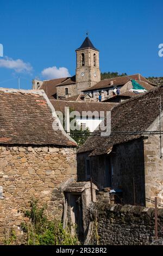
[[[120,77],[101,80],[100,82],[96,83],[95,86],[92,86],[89,89],[83,90],[83,92],[88,92],[91,90],[102,89],[102,88],[109,88],[113,86],[124,86],[124,84],[126,84],[130,79],[134,79],[137,82],[140,82],[140,81],[146,82],[148,84],[151,84],[152,86],[157,86],[151,81],[148,81],[145,77],[141,76],[140,74],[135,74],[130,76],[120,76]],[[113,85],[111,84],[111,80],[113,81]]]

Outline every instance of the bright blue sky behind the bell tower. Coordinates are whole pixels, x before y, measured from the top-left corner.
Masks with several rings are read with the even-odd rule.
[[[161,0],[1,0],[0,9],[0,87],[74,75],[86,31],[102,72],[163,76]]]

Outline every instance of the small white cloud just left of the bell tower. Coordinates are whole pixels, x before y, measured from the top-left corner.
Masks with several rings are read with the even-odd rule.
[[[42,76],[46,79],[54,79],[54,78],[61,78],[61,77],[68,77],[71,76],[68,72],[67,68],[57,68],[57,66],[52,66],[46,69],[43,69],[41,72]]]

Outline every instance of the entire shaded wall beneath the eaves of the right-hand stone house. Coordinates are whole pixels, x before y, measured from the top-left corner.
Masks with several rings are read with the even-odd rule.
[[[135,204],[145,205],[143,140],[118,144],[112,151],[109,155],[93,157],[89,153],[78,154],[78,181],[86,180],[86,159],[90,159],[92,181],[99,190],[104,187],[122,190],[122,204],[134,204],[135,188]]]

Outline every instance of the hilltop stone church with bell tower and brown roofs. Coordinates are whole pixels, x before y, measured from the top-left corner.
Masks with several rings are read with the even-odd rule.
[[[128,85],[126,86],[130,80],[135,80],[145,90],[150,90],[156,86],[155,83],[147,80],[140,74],[101,80],[99,50],[86,37],[83,44],[76,50],[75,75],[48,81],[35,79],[33,80],[33,89],[43,89],[51,99],[68,100],[69,98],[75,97],[78,100],[98,102],[99,95],[102,97],[101,101],[110,99],[112,97],[112,91],[116,87],[117,89],[122,89],[121,94],[123,95],[121,98],[126,100],[131,96],[137,95],[136,93],[141,93],[135,91],[130,92],[131,88]],[[117,98],[120,97],[118,96]],[[111,99],[111,101],[113,100],[115,99]]]

